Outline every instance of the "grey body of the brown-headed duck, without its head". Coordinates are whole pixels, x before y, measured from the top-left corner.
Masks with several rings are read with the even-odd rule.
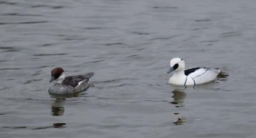
[[[84,76],[68,76],[62,83],[55,83],[50,86],[48,93],[53,95],[77,95],[89,88],[89,80],[93,75],[94,73],[88,73]],[[71,84],[68,82],[71,82]],[[77,82],[76,86],[74,82]]]

